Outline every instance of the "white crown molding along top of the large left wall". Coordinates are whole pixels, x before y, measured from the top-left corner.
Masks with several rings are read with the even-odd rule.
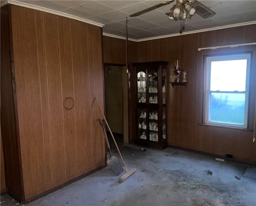
[[[41,6],[27,4],[25,2],[18,2],[16,0],[8,0],[7,2],[8,2],[8,4],[13,4],[13,5],[16,5],[16,6],[22,6],[22,7],[42,11],[42,12],[47,12],[47,13],[50,13],[50,14],[56,14],[58,16],[63,16],[63,17],[78,20],[80,22],[84,22],[84,23],[87,23],[87,24],[92,24],[94,26],[99,26],[99,27],[105,26],[104,24],[100,24],[100,23],[97,23],[97,22],[93,22],[93,21],[90,21],[90,20],[86,20],[86,19],[83,19],[83,18],[80,18],[80,17],[77,17],[77,16],[73,16],[73,15],[70,15],[70,14],[65,14],[63,12],[58,12],[58,11],[51,10],[51,9],[48,9],[48,8],[43,8]]]

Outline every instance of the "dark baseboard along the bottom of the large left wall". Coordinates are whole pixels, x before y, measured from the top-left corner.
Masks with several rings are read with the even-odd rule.
[[[71,183],[73,183],[73,182],[76,182],[77,180],[80,180],[80,179],[82,179],[82,178],[84,178],[84,177],[86,177],[86,176],[88,176],[88,175],[91,175],[92,173],[95,173],[95,172],[97,172],[97,171],[99,171],[99,170],[101,170],[101,169],[103,169],[103,168],[105,168],[105,167],[106,167],[106,164],[105,164],[104,166],[98,167],[98,168],[96,168],[96,169],[94,169],[94,170],[92,170],[92,171],[90,171],[90,172],[88,172],[88,173],[85,173],[85,174],[83,174],[83,175],[80,175],[79,177],[76,177],[76,178],[74,178],[74,179],[72,179],[72,180],[69,180],[69,181],[67,181],[67,182],[65,182],[65,183],[63,183],[63,184],[60,184],[60,185],[58,185],[58,186],[56,186],[56,187],[54,187],[54,188],[51,188],[50,190],[46,190],[45,192],[42,192],[42,193],[40,193],[40,194],[38,194],[38,195],[36,195],[36,196],[33,196],[33,197],[31,197],[31,198],[28,198],[28,199],[26,199],[26,200],[23,202],[23,204],[26,204],[26,203],[28,203],[28,202],[32,202],[32,201],[34,201],[34,200],[37,200],[38,198],[40,198],[40,197],[42,197],[42,196],[46,196],[47,194],[50,194],[50,193],[52,193],[52,192],[54,192],[54,191],[56,191],[56,190],[58,190],[58,189],[60,189],[60,188],[62,188],[62,187],[64,187],[64,186],[67,186],[68,184],[71,184]]]

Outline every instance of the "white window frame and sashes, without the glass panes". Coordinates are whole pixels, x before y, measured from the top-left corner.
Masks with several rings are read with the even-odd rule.
[[[246,85],[245,91],[212,91],[210,90],[210,73],[211,73],[211,62],[212,61],[228,61],[228,60],[239,60],[247,59],[246,65]],[[205,81],[204,81],[204,114],[203,121],[204,124],[212,126],[221,126],[221,127],[231,127],[231,128],[248,128],[248,118],[249,118],[249,94],[250,94],[250,67],[252,61],[251,52],[240,52],[240,53],[231,53],[231,54],[215,54],[215,55],[204,55],[204,68],[205,68]],[[228,124],[221,122],[212,122],[209,121],[210,117],[210,103],[211,103],[211,94],[212,93],[235,93],[235,94],[245,94],[245,108],[244,108],[244,125],[239,124]]]

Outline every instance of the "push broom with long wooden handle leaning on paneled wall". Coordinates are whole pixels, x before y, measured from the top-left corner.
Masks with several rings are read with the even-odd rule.
[[[115,138],[114,138],[114,135],[113,135],[113,133],[112,133],[112,131],[111,131],[111,129],[110,129],[110,126],[108,125],[108,121],[106,120],[106,117],[105,117],[105,115],[104,115],[104,113],[103,113],[103,111],[102,111],[102,109],[101,109],[101,107],[100,107],[100,104],[99,104],[99,102],[98,102],[98,99],[97,99],[96,97],[95,97],[95,99],[96,99],[96,102],[98,103],[98,106],[99,106],[99,108],[100,108],[100,111],[101,111],[101,113],[102,113],[102,115],[103,115],[104,121],[106,122],[106,125],[107,125],[107,127],[108,127],[108,129],[109,129],[109,131],[110,131],[111,137],[112,137],[112,139],[113,139],[113,141],[114,141],[114,143],[115,143],[115,145],[116,145],[116,149],[117,149],[117,151],[118,151],[118,153],[119,153],[119,155],[120,155],[120,158],[121,158],[121,160],[122,160],[122,163],[123,163],[123,165],[124,165],[124,170],[126,171],[126,173],[124,173],[124,175],[122,175],[122,176],[120,177],[120,179],[119,179],[119,183],[122,183],[122,182],[124,182],[125,180],[127,180],[129,177],[131,177],[131,176],[136,172],[136,169],[135,169],[135,168],[132,168],[132,169],[130,169],[130,170],[128,171],[128,169],[127,169],[127,167],[126,167],[126,164],[125,164],[125,162],[124,162],[124,159],[123,159],[123,157],[122,157],[122,154],[121,154],[121,152],[120,152],[120,150],[119,150],[119,148],[118,148],[118,145],[117,145],[117,143],[116,143],[116,140],[115,140]]]

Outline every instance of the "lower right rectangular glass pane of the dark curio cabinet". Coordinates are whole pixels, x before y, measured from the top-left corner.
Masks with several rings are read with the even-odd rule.
[[[158,112],[157,110],[148,110],[149,118],[149,140],[158,141]]]

